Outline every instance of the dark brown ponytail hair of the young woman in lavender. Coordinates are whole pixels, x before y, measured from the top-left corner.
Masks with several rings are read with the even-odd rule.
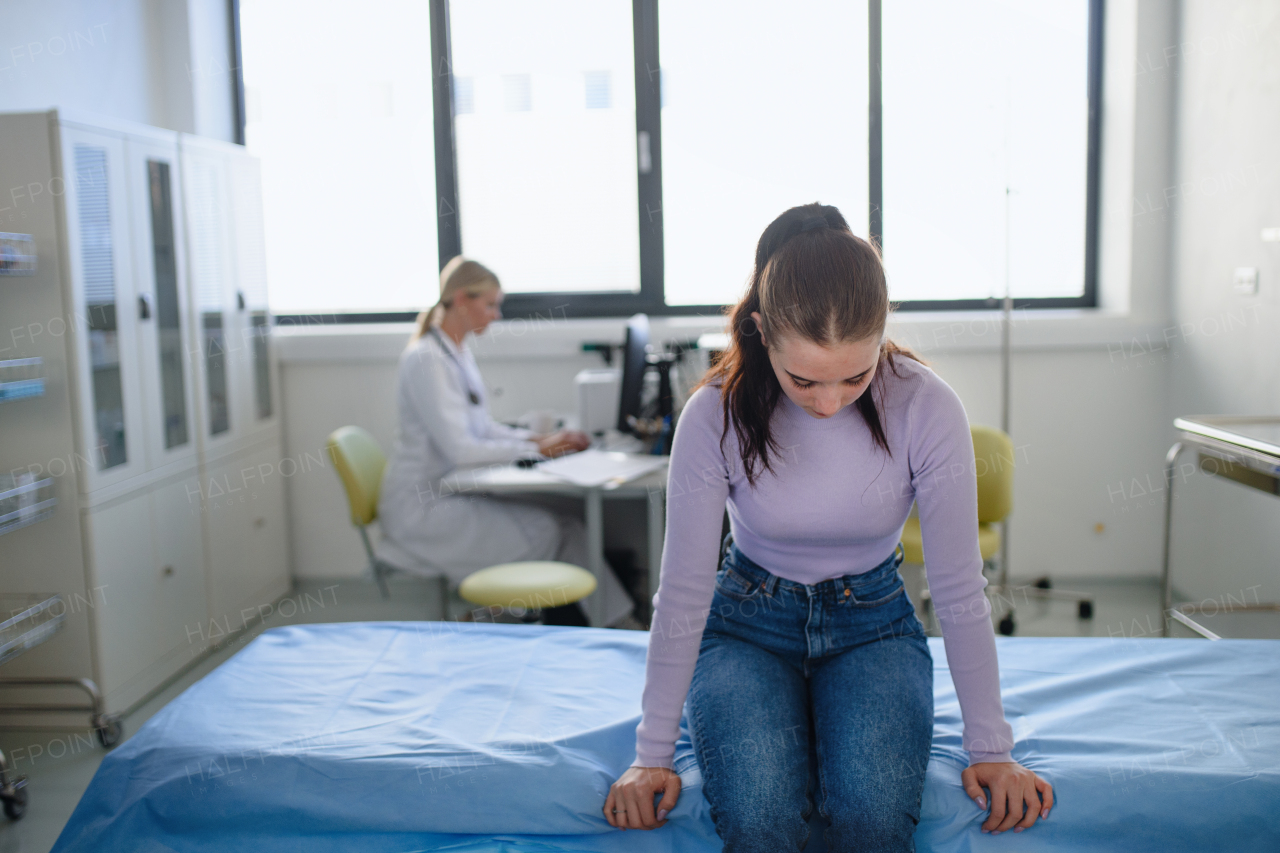
[[[753,311],[760,313],[759,328]],[[769,420],[782,386],[760,343],[762,333],[774,343],[783,336],[800,336],[822,346],[882,338],[888,313],[879,250],[855,236],[836,207],[801,205],[769,223],[755,246],[755,270],[746,295],[730,311],[730,346],[698,383],[721,387],[721,448],[732,424],[748,483],[754,485],[762,471],[773,470],[769,456],[780,450]],[[881,341],[876,378],[854,403],[886,453],[892,451],[876,396],[883,405],[881,368],[887,364],[896,374],[896,356],[920,361],[910,350]]]

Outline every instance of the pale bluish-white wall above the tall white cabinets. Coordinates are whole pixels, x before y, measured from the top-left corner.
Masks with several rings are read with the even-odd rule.
[[[5,0],[0,111],[76,108],[234,140],[227,0]]]

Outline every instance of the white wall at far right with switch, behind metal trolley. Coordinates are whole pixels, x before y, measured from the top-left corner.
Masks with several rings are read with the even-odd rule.
[[[1176,319],[1190,329],[1170,410],[1280,415],[1280,5],[1185,0],[1167,59],[1178,79],[1171,211]],[[1260,270],[1256,296],[1233,270]],[[1184,461],[1193,462],[1190,453]],[[1196,598],[1280,599],[1280,501],[1194,475],[1175,485],[1174,574]]]

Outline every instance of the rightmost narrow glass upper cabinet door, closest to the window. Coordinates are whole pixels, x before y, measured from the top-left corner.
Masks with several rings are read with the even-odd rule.
[[[271,318],[266,306],[266,250],[262,234],[262,179],[257,158],[230,160],[232,207],[236,222],[237,306],[244,348],[243,406],[247,429],[261,434],[274,429],[279,411]]]

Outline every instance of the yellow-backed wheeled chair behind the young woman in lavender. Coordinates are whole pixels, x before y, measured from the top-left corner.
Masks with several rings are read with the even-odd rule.
[[[993,560],[1001,551],[1004,537],[1001,526],[1014,508],[1014,442],[1009,435],[995,426],[970,426],[973,435],[973,455],[975,474],[978,476],[978,551],[982,552],[982,569],[987,571],[993,567]],[[904,561],[924,565],[924,546],[920,539],[920,519],[911,515],[902,528]],[[1014,621],[1014,588],[1009,584],[1009,566],[1004,560],[1000,562],[1000,581],[987,587],[988,593],[996,598],[1007,598],[1004,616],[1000,619],[998,629],[1005,637],[1012,635],[1016,629]],[[1024,598],[1057,598],[1074,601],[1078,606],[1080,619],[1093,616],[1093,598],[1084,593],[1068,592],[1065,589],[1052,589],[1048,578],[1041,578],[1029,587],[1021,587],[1018,592]],[[922,603],[925,613],[932,621],[933,602],[929,590],[922,594]]]

